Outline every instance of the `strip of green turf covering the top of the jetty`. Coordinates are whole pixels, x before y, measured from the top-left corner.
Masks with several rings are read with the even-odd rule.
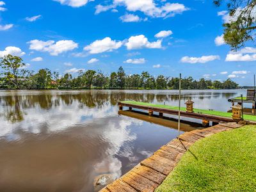
[[[163,104],[152,104],[152,103],[147,103],[147,102],[137,102],[137,101],[122,101],[124,103],[127,104],[134,104],[134,105],[141,105],[141,106],[148,106],[148,107],[156,107],[156,108],[164,108],[164,109],[173,109],[173,110],[178,110],[178,107],[175,106],[166,106]],[[180,108],[181,111],[186,111],[186,108]],[[228,113],[228,112],[223,112],[223,111],[210,111],[209,109],[195,109],[194,108],[194,112],[195,113],[203,113],[203,114],[207,114],[207,115],[216,115],[216,116],[224,116],[224,117],[232,117],[232,113]],[[252,121],[256,121],[256,116],[253,115],[244,115],[244,119],[245,120],[252,120]]]

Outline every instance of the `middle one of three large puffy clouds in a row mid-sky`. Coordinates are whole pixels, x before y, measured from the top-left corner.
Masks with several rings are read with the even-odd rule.
[[[122,46],[122,42],[111,40],[110,37],[106,37],[102,40],[95,40],[92,44],[84,47],[84,51],[89,51],[91,54],[97,54],[100,52],[109,52],[114,49],[119,49]]]

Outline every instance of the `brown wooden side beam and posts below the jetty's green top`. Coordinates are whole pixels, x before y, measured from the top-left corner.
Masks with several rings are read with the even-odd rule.
[[[153,112],[158,112],[159,116],[163,116],[164,113],[170,114],[170,115],[178,115],[179,111],[176,109],[166,109],[166,108],[157,108],[153,106],[145,106],[140,104],[129,104],[127,102],[118,102],[119,109],[122,110],[123,107],[128,107],[131,111],[132,108],[134,109],[143,109],[147,110],[149,115],[152,115]],[[220,123],[220,122],[235,122],[231,117],[225,117],[225,116],[216,116],[216,115],[208,115],[204,113],[190,113],[186,111],[180,111],[180,116],[186,116],[189,118],[196,118],[203,120],[203,125],[209,124],[209,122],[214,123]]]

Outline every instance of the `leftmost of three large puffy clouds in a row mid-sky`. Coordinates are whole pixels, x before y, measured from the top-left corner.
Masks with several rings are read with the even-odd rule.
[[[61,54],[62,52],[72,51],[78,47],[78,44],[72,40],[60,40],[56,43],[52,40],[47,42],[42,40],[31,40],[28,44],[30,44],[29,49],[49,52],[52,56],[58,56],[58,54]]]

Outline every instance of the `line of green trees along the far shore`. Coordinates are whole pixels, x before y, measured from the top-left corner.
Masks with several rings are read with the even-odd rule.
[[[22,58],[10,54],[0,58],[1,89],[179,89],[178,77],[154,77],[148,72],[127,75],[122,67],[110,76],[95,70],[80,70],[76,77],[72,74],[60,76],[58,72],[51,72],[42,68],[38,72],[26,70]],[[181,88],[186,90],[204,89],[234,89],[238,84],[230,79],[226,81],[211,81],[201,78],[198,81],[192,77],[181,80]]]

